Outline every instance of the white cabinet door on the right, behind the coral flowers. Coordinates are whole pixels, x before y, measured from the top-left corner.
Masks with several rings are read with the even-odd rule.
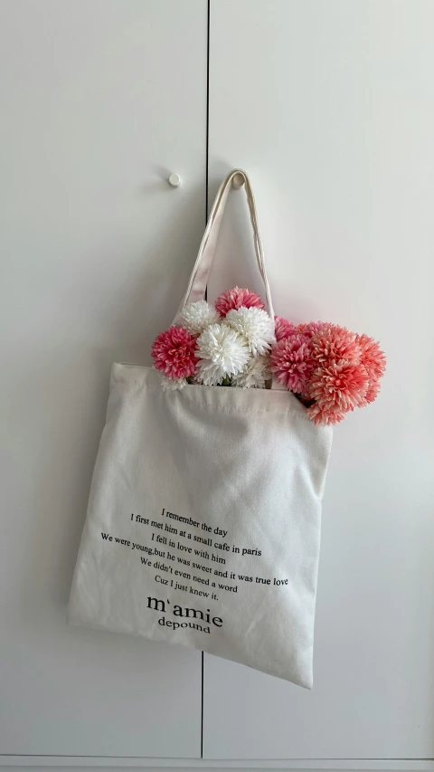
[[[429,0],[211,3],[212,192],[245,167],[277,312],[389,364],[335,428],[314,689],[205,656],[205,758],[434,757],[433,27]]]

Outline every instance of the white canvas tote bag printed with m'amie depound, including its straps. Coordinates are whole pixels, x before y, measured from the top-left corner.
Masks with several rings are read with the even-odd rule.
[[[183,302],[203,298],[235,174],[272,314],[240,170],[220,188]],[[311,688],[331,441],[287,391],[164,391],[152,367],[113,365],[70,623],[193,646]]]

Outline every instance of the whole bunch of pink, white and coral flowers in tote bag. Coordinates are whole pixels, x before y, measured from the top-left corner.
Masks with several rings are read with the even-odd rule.
[[[165,389],[187,384],[269,388],[274,377],[315,424],[337,424],[373,402],[386,359],[367,335],[327,322],[271,319],[259,295],[234,287],[188,303],[152,346]]]

